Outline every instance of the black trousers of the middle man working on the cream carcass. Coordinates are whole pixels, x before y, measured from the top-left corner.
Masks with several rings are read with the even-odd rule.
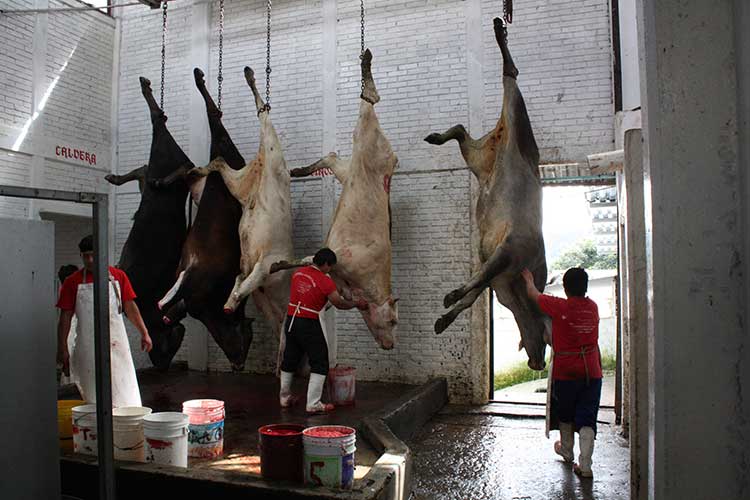
[[[294,318],[292,329],[289,330],[291,316],[286,317],[284,331],[286,332],[286,346],[281,370],[294,372],[297,370],[302,356],[307,354],[310,360],[310,371],[320,375],[328,375],[328,344],[320,328],[320,321],[310,318]]]

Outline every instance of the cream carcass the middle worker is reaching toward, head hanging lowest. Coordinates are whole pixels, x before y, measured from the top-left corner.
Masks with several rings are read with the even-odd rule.
[[[330,168],[341,182],[343,190],[326,239],[326,246],[337,257],[331,277],[345,297],[367,301],[368,309],[360,311],[367,328],[383,349],[392,349],[398,299],[391,296],[390,186],[398,159],[375,114],[380,96],[372,79],[371,62],[368,49],[362,57],[365,85],[351,159],[331,153],[291,174],[301,177]]]

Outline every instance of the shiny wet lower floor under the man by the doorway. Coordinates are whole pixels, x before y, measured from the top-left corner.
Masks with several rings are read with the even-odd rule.
[[[470,414],[448,406],[408,443],[415,464],[411,498],[628,500],[627,442],[619,427],[598,427],[594,479],[581,480],[552,450],[558,433],[547,439],[543,419]]]

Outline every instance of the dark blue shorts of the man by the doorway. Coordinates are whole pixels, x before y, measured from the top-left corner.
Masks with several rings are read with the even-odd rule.
[[[575,430],[591,427],[596,432],[596,417],[602,395],[602,379],[553,380],[552,411],[560,422],[575,424]]]

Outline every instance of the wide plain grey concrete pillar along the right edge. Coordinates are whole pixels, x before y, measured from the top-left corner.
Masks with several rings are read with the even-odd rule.
[[[654,500],[750,496],[742,3],[637,4]]]

